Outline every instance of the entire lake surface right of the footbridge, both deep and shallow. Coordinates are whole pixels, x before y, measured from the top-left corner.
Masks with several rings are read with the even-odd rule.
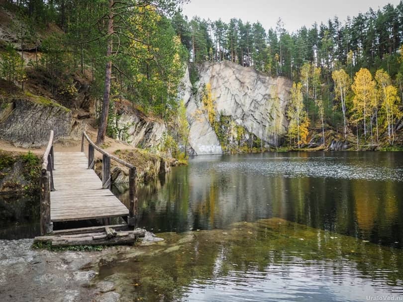
[[[101,265],[122,301],[403,301],[402,152],[199,156],[139,200],[166,240]]]

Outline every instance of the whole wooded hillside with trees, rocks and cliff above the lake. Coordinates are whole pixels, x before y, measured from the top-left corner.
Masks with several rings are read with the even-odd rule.
[[[399,7],[384,7],[374,18],[382,18],[388,9],[399,14]],[[216,23],[186,21],[172,7],[147,11],[137,20],[141,30],[140,23],[133,22],[142,13],[137,7],[127,16],[125,31],[110,38],[106,24],[97,19],[107,7],[80,4],[64,9],[42,1],[1,3],[0,139],[15,146],[43,146],[50,129],[67,144],[93,129],[100,144],[106,136],[177,158],[279,148],[402,146],[402,39],[394,37],[391,56],[382,49],[378,61],[356,53],[353,44],[344,55],[336,53],[335,41],[327,53],[319,45],[326,32],[331,39],[353,32],[357,18],[344,31],[342,24],[330,20],[320,30],[310,29],[320,41],[311,46],[320,49],[320,57],[313,60],[310,46],[299,59],[296,50],[281,47],[287,35],[310,41],[303,38],[303,28],[281,32],[275,41],[273,30],[266,33],[253,24],[246,52],[242,31],[250,29],[241,21],[223,25],[237,41],[229,47],[217,36]],[[381,27],[374,30],[382,32]],[[192,32],[199,40],[189,44]],[[118,49],[110,52],[108,45]],[[208,45],[211,52],[205,56],[202,50]],[[273,62],[280,49],[291,57]]]

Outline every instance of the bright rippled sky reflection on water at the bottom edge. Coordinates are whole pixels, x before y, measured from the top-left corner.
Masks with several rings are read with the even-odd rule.
[[[306,261],[288,257],[287,264],[263,270],[231,270],[215,279],[195,279],[185,301],[366,301],[367,296],[403,295],[403,283],[388,285],[385,272],[366,278],[349,260]],[[396,286],[396,285],[395,285]]]

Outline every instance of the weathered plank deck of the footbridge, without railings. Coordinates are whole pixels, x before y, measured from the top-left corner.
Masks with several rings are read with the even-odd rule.
[[[55,152],[53,181],[50,192],[52,222],[127,217],[129,210],[88,168],[84,152]]]

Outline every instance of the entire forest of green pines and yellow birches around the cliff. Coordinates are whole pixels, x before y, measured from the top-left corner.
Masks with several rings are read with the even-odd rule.
[[[380,141],[394,145],[402,118],[403,2],[293,33],[281,18],[270,29],[240,19],[189,19],[182,3],[4,1],[23,22],[15,22],[18,43],[3,42],[1,75],[23,88],[27,76],[44,72],[60,95],[75,93],[66,84],[70,74],[88,74],[92,93],[102,100],[98,108],[104,109],[98,142],[121,130],[114,126],[119,99],[180,129],[171,137],[185,137],[184,104],[177,100],[184,66],[194,83],[197,64],[228,60],[294,82],[285,144],[301,147],[316,132],[324,146],[325,132],[332,130],[350,141],[356,137],[357,148]],[[35,59],[26,64],[24,52],[35,53]]]

